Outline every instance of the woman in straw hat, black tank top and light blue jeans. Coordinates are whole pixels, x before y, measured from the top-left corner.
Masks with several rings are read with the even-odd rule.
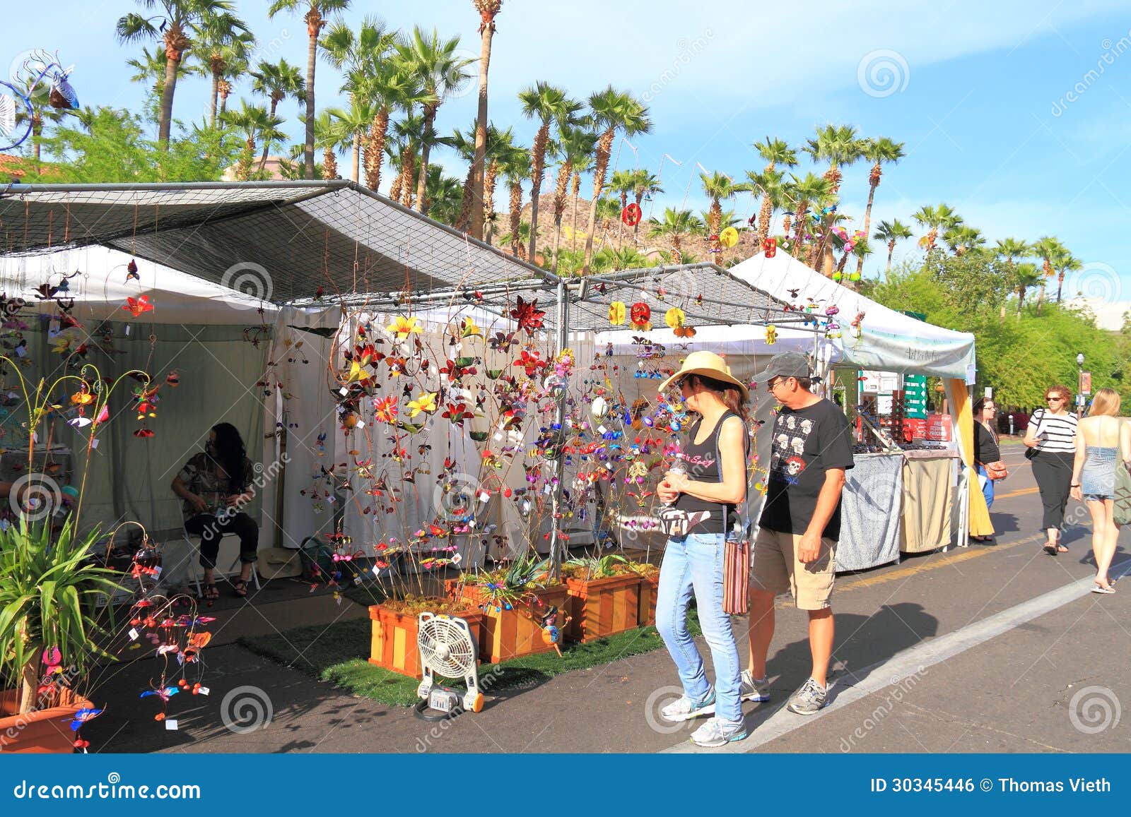
[[[688,355],[679,372],[665,380],[680,390],[699,421],[676,454],[657,495],[670,507],[661,514],[670,536],[656,593],[656,628],[675,661],[683,696],[661,714],[671,721],[714,714],[691,740],[725,746],[746,737],[742,720],[739,647],[731,619],[723,611],[723,548],[737,521],[736,506],[746,498],[746,386],[711,351]],[[682,466],[682,468],[677,467]],[[699,623],[715,663],[715,688],[688,633],[688,603],[694,596]]]

